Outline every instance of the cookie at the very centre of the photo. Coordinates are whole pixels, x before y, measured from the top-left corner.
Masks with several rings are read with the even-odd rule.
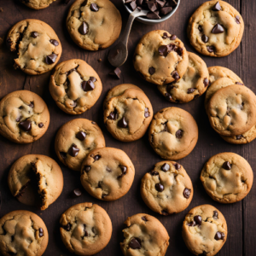
[[[119,84],[104,102],[104,124],[121,142],[143,137],[153,118],[153,108],[143,90],[133,84]]]

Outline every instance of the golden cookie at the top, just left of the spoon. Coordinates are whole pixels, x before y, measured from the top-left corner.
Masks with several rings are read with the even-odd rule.
[[[67,31],[83,49],[105,49],[119,38],[122,18],[108,0],[77,0],[67,15]]]

